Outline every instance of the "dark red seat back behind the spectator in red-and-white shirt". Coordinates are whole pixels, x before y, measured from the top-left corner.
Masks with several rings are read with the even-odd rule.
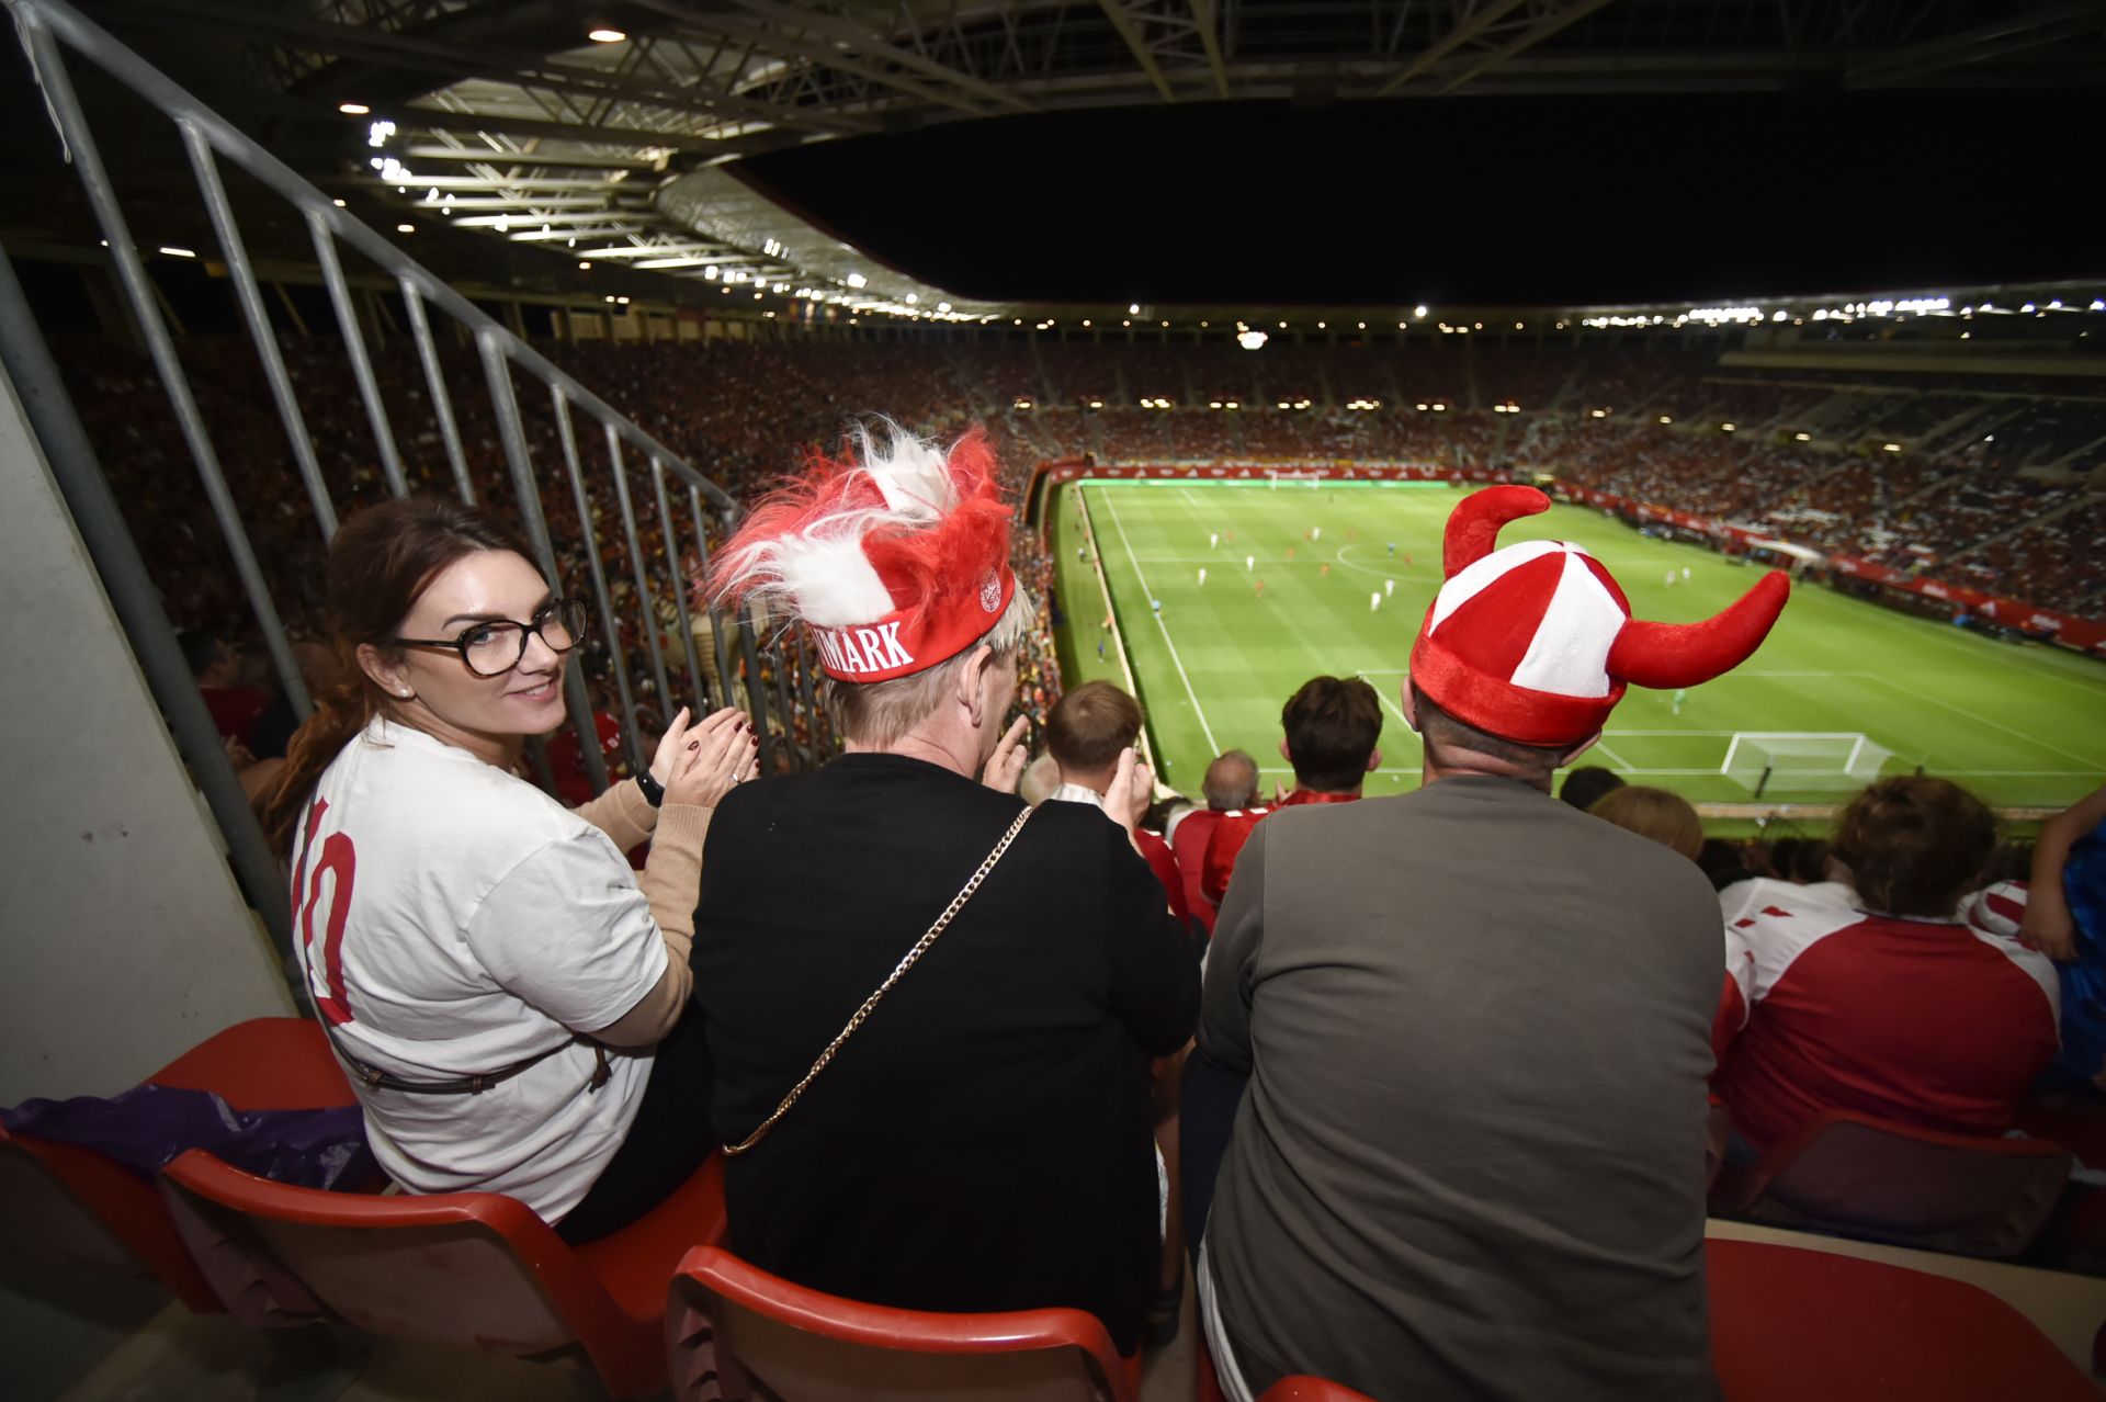
[[[2047,1139],[1942,1135],[1836,1109],[1752,1168],[1729,1168],[1710,1206],[1782,1227],[2011,1257],[2055,1210],[2072,1166]]]

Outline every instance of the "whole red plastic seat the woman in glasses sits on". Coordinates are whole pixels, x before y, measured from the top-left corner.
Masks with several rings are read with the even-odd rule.
[[[286,1187],[192,1149],[162,1175],[175,1225],[244,1324],[341,1318],[514,1358],[581,1351],[607,1391],[665,1385],[665,1284],[724,1229],[710,1160],[642,1219],[571,1246],[503,1194],[369,1198]]]

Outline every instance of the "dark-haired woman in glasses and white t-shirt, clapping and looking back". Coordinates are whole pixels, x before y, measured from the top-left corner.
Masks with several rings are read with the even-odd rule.
[[[682,709],[649,775],[562,808],[516,770],[564,720],[585,610],[510,528],[377,505],[337,533],[326,583],[347,680],[295,735],[265,825],[366,1137],[411,1191],[503,1191],[604,1236],[712,1147],[687,956],[710,813],[756,739],[733,709]],[[638,882],[621,853],[647,836]]]

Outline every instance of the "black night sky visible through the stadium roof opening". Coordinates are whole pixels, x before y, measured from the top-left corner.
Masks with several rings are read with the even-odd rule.
[[[2106,274],[2100,93],[1186,105],[748,162],[969,297],[1594,303]]]

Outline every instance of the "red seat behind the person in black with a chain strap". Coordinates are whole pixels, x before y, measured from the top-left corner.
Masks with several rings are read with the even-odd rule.
[[[807,1290],[701,1246],[680,1263],[665,1307],[678,1402],[764,1396],[777,1402],[859,1398],[1021,1398],[1133,1402],[1139,1360],[1120,1358],[1082,1309],[931,1314]],[[714,1373],[714,1385],[710,1389]]]

